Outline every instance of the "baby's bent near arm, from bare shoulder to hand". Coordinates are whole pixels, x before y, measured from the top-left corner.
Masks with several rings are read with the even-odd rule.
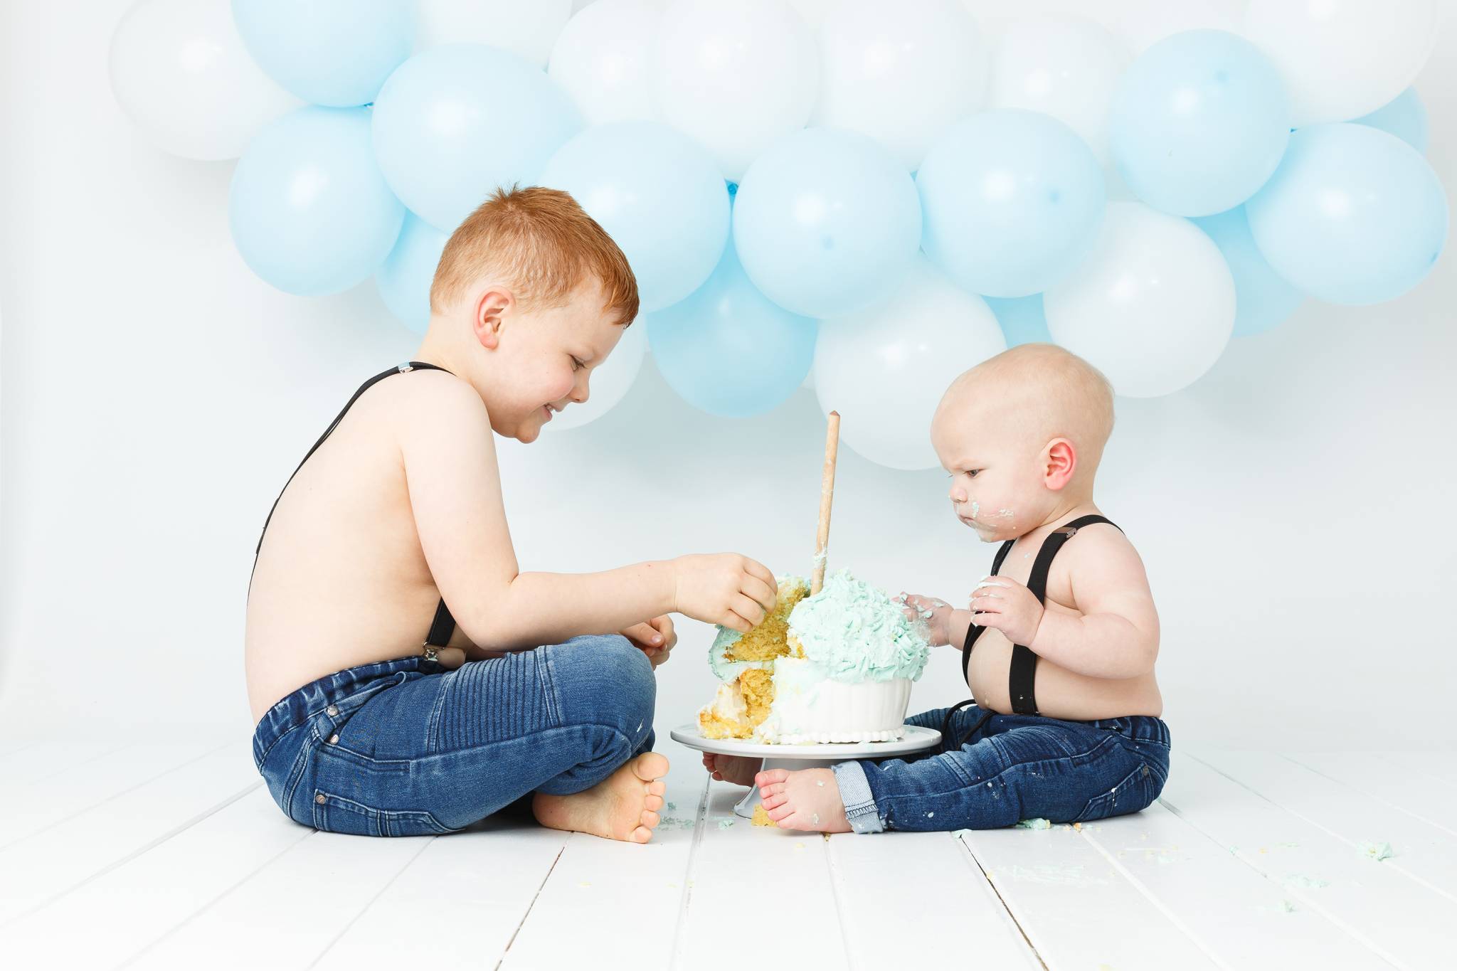
[[[1134,546],[1120,534],[1087,533],[1062,555],[1078,614],[1045,610],[1021,584],[989,576],[997,585],[978,588],[976,623],[1077,674],[1129,678],[1152,671],[1158,611]]]

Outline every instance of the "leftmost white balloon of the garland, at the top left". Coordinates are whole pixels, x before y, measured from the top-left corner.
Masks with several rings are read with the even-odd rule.
[[[243,154],[303,102],[254,63],[229,0],[141,0],[111,38],[111,89],[163,151],[217,162]]]

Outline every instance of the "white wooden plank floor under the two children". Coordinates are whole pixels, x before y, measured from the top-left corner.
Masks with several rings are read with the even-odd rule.
[[[0,968],[1457,968],[1451,753],[1176,751],[1134,817],[832,839],[749,827],[667,753],[625,846],[316,833],[242,741],[20,747]]]

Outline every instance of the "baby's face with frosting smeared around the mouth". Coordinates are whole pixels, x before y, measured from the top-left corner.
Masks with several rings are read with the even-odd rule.
[[[1039,457],[1046,443],[1005,408],[960,403],[931,422],[931,444],[950,475],[947,498],[983,543],[1016,539],[1048,511]]]

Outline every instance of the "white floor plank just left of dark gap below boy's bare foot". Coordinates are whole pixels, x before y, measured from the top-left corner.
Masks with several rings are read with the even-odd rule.
[[[318,971],[492,968],[567,843],[532,820],[492,820],[437,839],[323,952]],[[428,933],[380,927],[427,914]]]

